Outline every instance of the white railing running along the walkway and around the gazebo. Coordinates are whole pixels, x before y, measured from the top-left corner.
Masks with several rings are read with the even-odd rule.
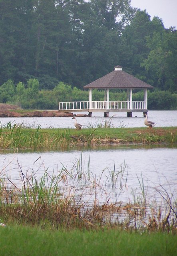
[[[120,110],[143,110],[144,101],[92,101],[91,108],[89,101],[59,102],[59,110],[88,110],[88,109],[120,109]]]

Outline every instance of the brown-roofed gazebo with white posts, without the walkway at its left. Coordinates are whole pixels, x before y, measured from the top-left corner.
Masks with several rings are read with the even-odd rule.
[[[105,99],[103,102],[105,107],[104,116],[109,116],[109,112],[116,112],[116,110],[126,111],[127,116],[132,116],[132,112],[147,112],[147,89],[151,88],[153,86],[123,71],[121,66],[115,66],[114,71],[111,73],[84,86],[84,89],[89,89],[89,116],[91,116],[91,110],[95,110],[94,105],[97,104],[96,102],[92,102],[92,89],[105,90]],[[127,101],[109,102],[109,89],[126,89]],[[133,89],[144,89],[144,101],[132,101]]]

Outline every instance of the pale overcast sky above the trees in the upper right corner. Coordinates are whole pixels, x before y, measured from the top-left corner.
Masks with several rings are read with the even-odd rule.
[[[177,29],[177,0],[131,0],[131,6],[146,9],[151,20],[158,16],[165,28],[173,26]]]

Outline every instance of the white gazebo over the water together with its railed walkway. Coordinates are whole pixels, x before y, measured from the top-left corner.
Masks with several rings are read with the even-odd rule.
[[[122,70],[121,66],[115,66],[114,71],[84,86],[89,89],[89,101],[81,102],[59,102],[59,110],[61,111],[88,111],[89,116],[92,112],[104,112],[104,116],[108,117],[109,112],[127,112],[127,116],[131,117],[132,112],[147,113],[147,90],[153,86],[135,78]],[[92,90],[104,90],[103,101],[92,100]],[[109,101],[109,90],[124,89],[127,90],[126,101]],[[144,99],[142,101],[133,101],[133,89],[143,89]]]

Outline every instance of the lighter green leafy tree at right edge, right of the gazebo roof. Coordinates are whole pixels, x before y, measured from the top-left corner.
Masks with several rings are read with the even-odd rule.
[[[147,46],[150,52],[141,66],[149,81],[159,89],[177,91],[177,31],[154,32],[152,39],[147,38]]]

